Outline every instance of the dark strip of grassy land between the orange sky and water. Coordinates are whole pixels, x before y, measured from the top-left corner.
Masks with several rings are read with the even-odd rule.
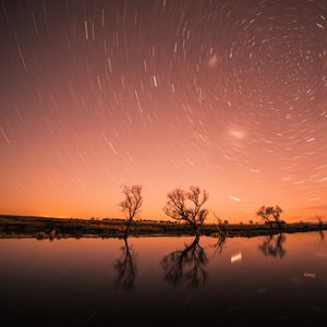
[[[256,237],[271,233],[294,233],[327,229],[327,225],[318,226],[313,222],[284,223],[282,229],[268,225],[225,225],[227,237]],[[124,235],[123,219],[77,219],[49,218],[31,216],[0,215],[0,238],[121,238]],[[204,225],[201,234],[214,235],[218,232],[217,225]],[[190,235],[193,230],[184,223],[173,221],[137,220],[131,226],[130,235]]]

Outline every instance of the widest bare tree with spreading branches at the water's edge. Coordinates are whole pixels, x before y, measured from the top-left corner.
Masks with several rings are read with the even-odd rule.
[[[202,206],[208,199],[208,193],[198,186],[190,186],[190,191],[175,189],[167,194],[168,201],[164,207],[167,216],[190,223],[195,233],[204,223],[208,210]]]

